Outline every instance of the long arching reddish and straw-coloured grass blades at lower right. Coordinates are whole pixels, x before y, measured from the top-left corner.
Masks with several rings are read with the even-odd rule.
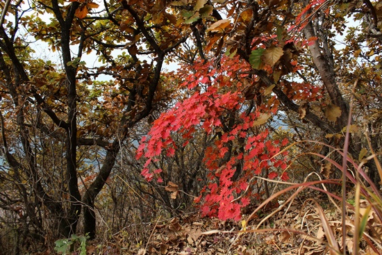
[[[347,139],[349,139],[347,137]],[[303,141],[303,142],[314,142],[321,145],[324,145],[322,142],[317,141]],[[290,149],[290,147],[296,145],[295,142],[292,145],[289,145],[283,151]],[[347,150],[343,151],[335,149],[330,145],[328,146],[331,149],[337,151],[340,156],[344,159],[344,163],[340,165],[339,163],[333,161],[331,158],[327,158],[322,154],[317,154],[314,152],[308,152],[304,154],[312,154],[322,158],[323,161],[328,161],[333,164],[338,170],[342,172],[342,179],[324,179],[322,180],[319,174],[311,173],[309,174],[303,183],[288,183],[285,181],[276,181],[270,179],[264,179],[262,177],[254,177],[257,179],[263,179],[265,181],[271,181],[277,184],[288,185],[287,188],[275,192],[268,199],[263,201],[254,210],[251,215],[247,217],[246,220],[242,221],[242,230],[237,231],[238,236],[233,240],[233,244],[242,236],[244,233],[264,233],[269,231],[288,231],[289,233],[300,234],[301,236],[306,236],[310,240],[316,240],[322,242],[326,245],[326,250],[329,254],[378,254],[382,255],[382,196],[380,190],[377,188],[376,184],[373,183],[371,179],[365,173],[365,163],[370,160],[374,160],[376,167],[379,172],[379,176],[382,179],[382,167],[377,159],[377,155],[374,153],[372,147],[369,147],[371,153],[369,156],[360,155],[360,163],[356,163],[351,157],[347,156]],[[347,143],[345,143],[347,146]],[[280,154],[283,152],[280,151]],[[303,156],[301,154],[299,156]],[[364,153],[363,153],[364,154]],[[290,166],[292,163],[290,163]],[[290,167],[289,166],[289,167]],[[288,168],[289,168],[288,167]],[[351,169],[350,169],[351,167]],[[288,171],[288,168],[285,171]],[[315,174],[318,176],[317,181],[308,181]],[[342,186],[342,196],[336,195],[334,192],[329,192],[326,186],[328,185],[338,185]],[[319,188],[321,186],[322,188]],[[296,199],[303,190],[305,189],[318,190],[319,192],[324,193],[328,198],[331,204],[333,204],[335,211],[342,218],[341,221],[338,220],[329,220],[329,217],[326,215],[322,206],[319,205],[314,199],[308,199],[304,205],[314,204],[316,208],[316,214],[321,220],[321,227],[324,231],[324,236],[326,240],[321,240],[316,236],[313,236],[312,233],[305,233],[299,229],[285,229],[285,228],[275,228],[272,229],[260,229],[265,221],[270,217],[274,216],[276,213],[279,213],[281,210],[284,210],[284,214],[288,213],[288,209],[292,205],[294,199]],[[290,195],[290,193],[292,193]],[[349,197],[349,196],[352,197]],[[256,214],[261,211],[269,202],[276,201],[276,199],[281,196],[288,197],[279,208],[276,208],[272,213],[263,217],[263,219],[256,226],[249,226],[249,222],[254,220]],[[353,197],[354,196],[354,197]],[[237,199],[240,199],[237,198]],[[349,201],[352,201],[351,203]],[[341,231],[336,231],[338,229]],[[214,233],[232,233],[232,231],[206,231],[205,235],[214,234]],[[230,248],[231,249],[231,248]],[[229,249],[229,250],[230,250]],[[361,251],[363,252],[361,253]],[[228,251],[229,252],[229,251]],[[227,254],[228,254],[227,252]],[[302,254],[301,251],[299,254]],[[326,254],[326,252],[325,252]]]

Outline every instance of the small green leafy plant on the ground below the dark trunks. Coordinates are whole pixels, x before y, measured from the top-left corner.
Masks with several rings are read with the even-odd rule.
[[[56,247],[54,247],[54,249],[58,253],[67,255],[74,252],[74,247],[76,246],[76,244],[78,244],[79,247],[76,248],[76,251],[80,252],[80,255],[86,255],[86,240],[88,239],[88,234],[86,234],[85,236],[76,236],[75,234],[73,234],[70,238],[56,240],[56,242],[54,242],[56,244]]]

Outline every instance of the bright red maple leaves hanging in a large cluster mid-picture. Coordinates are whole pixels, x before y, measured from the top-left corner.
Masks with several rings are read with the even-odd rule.
[[[153,122],[151,131],[141,141],[136,157],[147,158],[142,170],[147,181],[153,178],[162,181],[158,177],[160,170],[151,172],[149,164],[158,160],[162,153],[174,156],[176,145],[172,139],[173,132],[181,133],[186,140],[183,146],[187,145],[187,140],[192,138],[197,129],[203,129],[211,135],[219,132],[213,145],[204,151],[209,184],[195,201],[202,203],[203,215],[217,216],[221,220],[239,220],[241,208],[247,206],[250,198],[256,195],[248,188],[256,183],[254,176],[269,170],[267,178],[274,179],[279,173],[272,170],[286,169],[283,159],[286,152],[280,154],[280,147],[285,146],[288,140],[272,139],[267,129],[257,129],[262,131],[254,134],[254,127],[266,122],[259,120],[276,113],[275,99],[270,99],[267,105],[250,113],[242,110],[245,108],[245,99],[240,79],[247,78],[249,74],[244,71],[249,67],[237,58],[224,58],[222,63],[224,65],[220,69],[211,71],[211,63],[197,64],[193,67],[195,73],[183,74],[183,88],[190,89],[193,94]],[[230,131],[222,132],[222,116],[226,113],[235,113],[237,121]],[[244,141],[244,152],[233,153],[229,159],[222,161],[229,152],[229,143],[238,144],[239,141]],[[242,165],[240,177],[233,179],[238,164]],[[281,179],[287,180],[288,175],[283,172]],[[239,196],[240,199],[235,199]]]

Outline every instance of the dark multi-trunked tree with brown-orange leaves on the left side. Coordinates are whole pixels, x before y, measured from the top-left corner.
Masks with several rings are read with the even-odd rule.
[[[1,149],[8,167],[3,174],[18,190],[16,197],[3,190],[4,204],[23,204],[41,233],[49,230],[42,224],[47,208],[60,236],[76,233],[83,213],[84,232],[94,238],[94,200],[131,127],[165,96],[163,63],[187,36],[160,4],[1,4]],[[39,42],[58,53],[61,63],[36,58]],[[84,54],[97,54],[99,65],[86,63]],[[101,75],[111,81],[97,81]],[[78,183],[90,174],[94,179],[81,192]]]

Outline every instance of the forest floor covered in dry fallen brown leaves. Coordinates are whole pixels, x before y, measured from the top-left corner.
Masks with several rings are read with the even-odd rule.
[[[249,222],[246,219],[256,206],[250,208],[239,222],[201,217],[199,213],[184,213],[167,220],[158,219],[157,222],[147,224],[144,233],[139,233],[144,236],[142,239],[147,240],[145,242],[134,237],[137,236],[134,234],[137,229],[128,227],[111,238],[88,242],[86,254],[329,254],[322,220],[313,200],[324,209],[331,231],[341,247],[341,213],[327,197],[315,193],[296,197],[284,206],[283,201],[268,204],[265,210],[257,213]],[[354,254],[352,231],[349,226],[347,229],[348,254]],[[78,251],[72,254],[81,253]],[[361,241],[359,254],[377,253]]]

